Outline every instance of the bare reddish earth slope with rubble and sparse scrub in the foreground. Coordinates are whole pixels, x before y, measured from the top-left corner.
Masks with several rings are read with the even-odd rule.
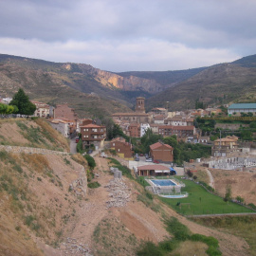
[[[22,131],[8,122],[1,123],[0,132],[6,125],[17,136],[7,141],[15,143]],[[140,240],[157,243],[170,237],[163,216],[175,216],[192,232],[217,238],[223,255],[247,255],[243,239],[194,224],[157,198],[146,207],[144,189],[136,181],[114,181],[109,160],[95,160],[94,181],[101,187],[83,196],[81,189],[70,190],[74,181],[86,179],[82,155],[0,151],[0,255],[136,255]]]

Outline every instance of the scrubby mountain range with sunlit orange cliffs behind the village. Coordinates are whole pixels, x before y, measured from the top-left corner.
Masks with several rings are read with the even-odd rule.
[[[138,96],[147,110],[194,108],[233,101],[253,102],[256,95],[256,55],[233,63],[176,71],[114,73],[90,64],[53,63],[0,54],[0,95],[12,97],[19,87],[30,100],[67,102],[80,117],[104,117],[131,111]]]

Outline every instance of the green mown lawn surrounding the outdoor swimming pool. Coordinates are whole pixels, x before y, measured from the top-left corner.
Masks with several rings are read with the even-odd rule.
[[[160,200],[167,203],[170,207],[172,207],[174,210],[181,214],[201,215],[255,212],[238,204],[224,202],[223,198],[207,192],[203,187],[195,184],[191,180],[182,179],[182,181],[186,185],[185,188],[182,188],[182,192],[189,192],[188,197],[181,199],[159,197]],[[178,202],[180,202],[180,206],[176,206]]]

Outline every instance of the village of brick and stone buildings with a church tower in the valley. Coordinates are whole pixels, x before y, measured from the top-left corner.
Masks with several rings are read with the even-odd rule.
[[[9,103],[11,99],[1,101]],[[101,156],[104,156],[106,150],[114,151],[119,157],[129,161],[127,165],[134,169],[137,175],[185,174],[184,164],[179,163],[182,167],[180,168],[174,161],[174,147],[161,139],[151,144],[148,152],[135,150],[131,138],[139,139],[149,130],[153,135],[163,138],[176,137],[177,141],[211,147],[211,156],[208,159],[189,159],[187,165],[204,161],[210,168],[224,170],[245,170],[247,167],[256,166],[252,142],[245,143],[234,135],[222,137],[221,128],[227,128],[227,124],[215,124],[219,127],[220,134],[214,140],[210,139],[210,135],[204,133],[199,125],[195,126],[198,118],[225,117],[221,107],[170,112],[167,105],[167,108],[153,108],[146,113],[145,99],[138,97],[134,112],[112,115],[113,123],[119,127],[123,137],[110,139],[107,136],[107,127],[101,123],[101,119],[79,119],[75,110],[67,103],[53,107],[44,102],[31,102],[36,105],[36,111],[31,117],[44,118],[64,137],[76,143],[81,141],[82,149],[88,154],[102,152]],[[231,104],[227,107],[229,117],[245,116],[247,113],[248,117],[251,117],[256,113],[256,104],[253,103]],[[237,126],[229,124],[229,128],[232,125]]]

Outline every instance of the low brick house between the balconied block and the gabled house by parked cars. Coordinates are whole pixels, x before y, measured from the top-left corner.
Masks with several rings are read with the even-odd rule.
[[[132,159],[134,152],[132,150],[132,144],[129,142],[126,142],[124,138],[122,137],[116,137],[113,138],[110,141],[110,148],[115,150],[119,157],[125,158],[125,159]]]

